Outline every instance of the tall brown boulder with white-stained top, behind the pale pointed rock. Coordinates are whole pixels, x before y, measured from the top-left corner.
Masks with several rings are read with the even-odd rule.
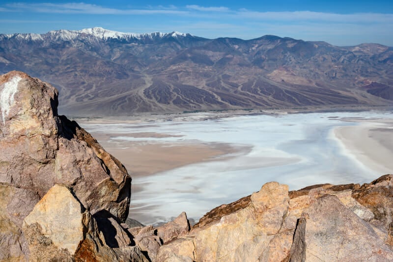
[[[57,95],[25,73],[0,76],[0,260],[28,260],[22,221],[55,184],[70,187],[92,215],[128,216],[131,177],[75,121],[57,115]]]

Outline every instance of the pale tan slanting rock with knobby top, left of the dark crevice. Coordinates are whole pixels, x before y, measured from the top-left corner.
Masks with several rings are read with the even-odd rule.
[[[183,256],[195,261],[257,261],[262,251],[269,247],[274,234],[279,232],[288,202],[286,185],[265,184],[251,196],[251,204],[222,216],[220,221],[193,229],[189,233],[193,239],[193,253]],[[191,247],[188,238],[175,241],[180,247],[178,250],[185,250],[183,245]],[[174,250],[174,244],[169,243],[160,248],[158,258],[163,261],[168,261],[173,254],[179,255],[180,251]]]

